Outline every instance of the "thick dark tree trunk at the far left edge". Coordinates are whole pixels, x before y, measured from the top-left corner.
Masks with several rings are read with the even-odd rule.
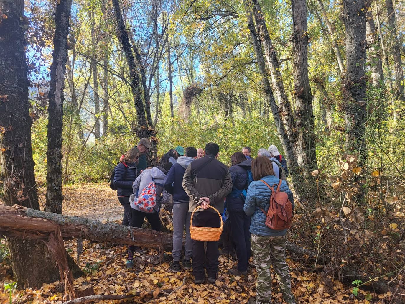
[[[4,201],[39,210],[31,146],[31,118],[25,54],[23,0],[0,0],[0,163]],[[6,16],[6,17],[4,17]],[[6,71],[6,72],[5,72]],[[4,97],[5,96],[5,97]],[[43,242],[8,240],[19,288],[40,287],[60,278]]]

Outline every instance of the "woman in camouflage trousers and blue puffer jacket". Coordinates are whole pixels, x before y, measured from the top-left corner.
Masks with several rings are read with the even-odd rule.
[[[264,180],[270,186],[276,184],[275,189],[280,180],[274,176],[273,165],[265,156],[259,156],[252,161],[252,175],[254,181],[250,183],[247,189],[245,206],[243,207],[246,215],[252,217],[250,233],[257,270],[257,298],[256,300],[250,298],[249,303],[271,303],[271,288],[269,286],[271,286],[270,265],[272,264],[284,300],[290,304],[295,304],[294,295],[291,292],[290,271],[286,263],[287,229],[273,230],[265,224],[266,214],[264,212],[267,212],[270,207],[271,189],[260,180]],[[280,191],[287,193],[294,209],[294,197],[286,181],[283,180],[280,187]]]

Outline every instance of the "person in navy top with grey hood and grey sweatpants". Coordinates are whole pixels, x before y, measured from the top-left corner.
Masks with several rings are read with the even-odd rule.
[[[181,249],[183,248],[183,231],[185,227],[185,245],[183,268],[190,269],[190,259],[193,254],[193,244],[190,237],[190,212],[188,203],[190,198],[183,189],[183,176],[185,169],[197,158],[197,150],[194,147],[185,148],[185,156],[177,158],[164,179],[164,188],[173,195],[173,262],[170,270],[180,271]]]

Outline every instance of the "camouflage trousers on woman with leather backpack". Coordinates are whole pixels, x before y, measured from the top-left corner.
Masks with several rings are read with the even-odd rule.
[[[295,304],[291,292],[290,271],[286,263],[287,236],[260,236],[253,234],[252,249],[257,270],[256,303],[271,303],[271,269],[273,265],[284,300]]]

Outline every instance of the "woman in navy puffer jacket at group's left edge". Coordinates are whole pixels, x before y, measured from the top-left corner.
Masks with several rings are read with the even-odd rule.
[[[141,157],[141,152],[137,148],[128,150],[119,160],[115,167],[114,186],[117,187],[119,203],[124,207],[124,219],[122,225],[128,226],[132,221],[132,211],[129,197],[132,194],[132,183],[136,179],[136,165]]]

